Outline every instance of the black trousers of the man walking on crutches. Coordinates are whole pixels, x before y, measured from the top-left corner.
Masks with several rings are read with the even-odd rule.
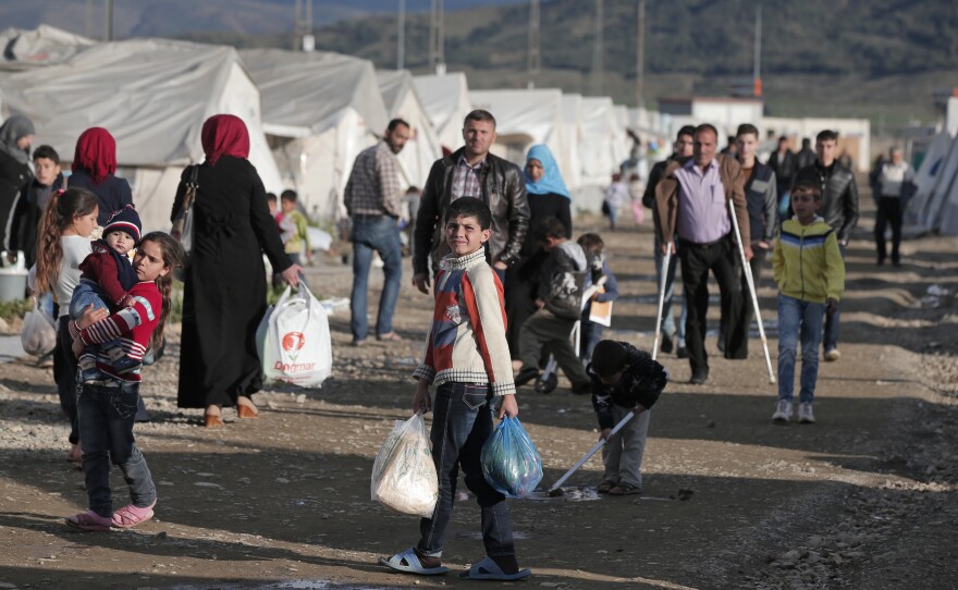
[[[681,286],[685,293],[688,317],[685,322],[685,343],[689,354],[692,374],[709,370],[705,353],[705,317],[709,312],[709,271],[718,282],[722,317],[728,329],[725,333],[725,358],[748,356],[748,332],[741,321],[741,285],[735,268],[738,246],[732,236],[708,245],[683,241],[678,248],[681,261]]]

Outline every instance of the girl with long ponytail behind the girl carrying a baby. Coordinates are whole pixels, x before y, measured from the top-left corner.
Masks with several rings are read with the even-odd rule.
[[[60,304],[53,380],[60,407],[70,419],[71,450],[67,460],[79,462],[82,451],[76,420],[76,358],[70,335],[70,299],[79,284],[79,263],[90,253],[90,234],[97,226],[97,196],[84,188],[56,190],[50,196],[39,226],[35,291],[52,293]]]

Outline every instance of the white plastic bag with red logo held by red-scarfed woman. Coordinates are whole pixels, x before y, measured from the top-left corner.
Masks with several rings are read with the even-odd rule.
[[[333,367],[332,341],[326,309],[305,284],[291,295],[286,287],[267,310],[256,331],[263,377],[300,386],[316,386]]]

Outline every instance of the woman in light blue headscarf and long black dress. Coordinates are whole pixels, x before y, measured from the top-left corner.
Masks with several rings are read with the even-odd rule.
[[[506,337],[513,360],[519,359],[523,322],[536,312],[536,279],[548,256],[536,243],[536,230],[543,220],[556,218],[565,225],[566,237],[573,235],[572,195],[565,187],[552,151],[543,144],[529,148],[525,171],[531,212],[529,231],[523,243],[521,259],[505,273],[505,308],[509,320]]]

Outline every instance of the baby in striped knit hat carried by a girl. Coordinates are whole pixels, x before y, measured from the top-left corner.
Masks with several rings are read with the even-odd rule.
[[[136,247],[142,231],[139,216],[127,205],[113,211],[103,225],[102,237],[90,244],[90,254],[79,263],[79,284],[70,300],[70,317],[77,320],[84,310],[119,311],[133,303],[130,290],[139,280],[127,254]],[[97,357],[109,362],[116,373],[128,372],[143,362],[146,351],[124,351],[120,339],[110,339],[99,346],[89,346],[79,356],[79,370],[84,381],[99,379]]]

